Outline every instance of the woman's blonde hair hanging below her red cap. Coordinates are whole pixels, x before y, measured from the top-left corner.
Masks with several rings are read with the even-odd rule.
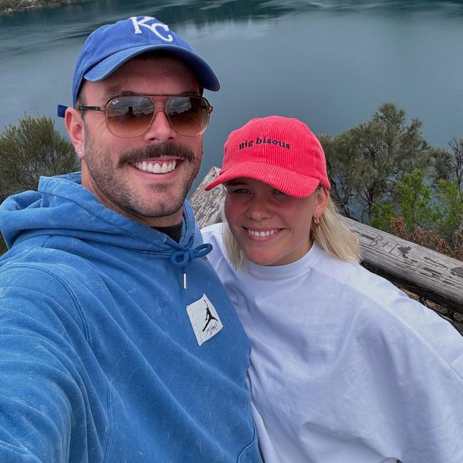
[[[224,222],[223,240],[224,248],[231,264],[238,269],[246,261],[246,254],[241,249],[238,241],[234,238],[227,224],[222,206],[222,218]],[[318,217],[320,224],[312,222],[311,238],[318,246],[328,254],[345,262],[360,261],[360,248],[357,235],[348,228],[343,217],[338,214],[331,198],[328,199],[328,207]]]

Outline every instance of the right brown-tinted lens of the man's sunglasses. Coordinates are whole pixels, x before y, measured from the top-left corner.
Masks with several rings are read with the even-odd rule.
[[[170,97],[166,106],[172,128],[180,135],[199,135],[207,128],[207,101],[199,96]]]

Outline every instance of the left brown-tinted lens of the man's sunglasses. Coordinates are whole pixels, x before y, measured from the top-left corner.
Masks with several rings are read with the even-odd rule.
[[[118,137],[141,135],[151,123],[155,110],[150,98],[145,96],[118,96],[108,105],[108,129]]]

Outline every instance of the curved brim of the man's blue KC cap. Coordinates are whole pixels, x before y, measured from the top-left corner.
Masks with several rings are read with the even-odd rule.
[[[110,76],[110,74],[131,58],[142,53],[146,53],[147,51],[155,50],[169,51],[169,53],[173,56],[177,56],[177,58],[192,69],[195,76],[197,76],[198,83],[201,88],[212,90],[214,92],[219,90],[219,80],[206,61],[200,58],[193,51],[189,51],[175,45],[145,45],[118,51],[93,66],[88,73],[85,73],[83,78],[85,78],[85,80],[90,80],[90,82],[98,82],[99,80],[103,80]]]

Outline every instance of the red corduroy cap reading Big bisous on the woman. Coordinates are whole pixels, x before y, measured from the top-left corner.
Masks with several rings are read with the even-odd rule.
[[[224,145],[219,177],[206,190],[247,177],[293,197],[307,197],[318,184],[330,189],[323,147],[300,120],[270,116],[234,130]]]

